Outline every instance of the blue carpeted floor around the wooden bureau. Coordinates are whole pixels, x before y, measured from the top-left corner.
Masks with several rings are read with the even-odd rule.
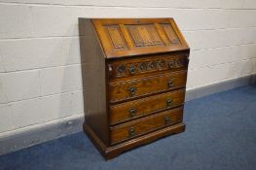
[[[83,132],[0,156],[1,170],[255,170],[256,86],[192,100],[184,133],[105,161]]]

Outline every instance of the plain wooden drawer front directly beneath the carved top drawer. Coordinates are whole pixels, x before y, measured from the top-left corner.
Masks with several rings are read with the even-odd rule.
[[[187,71],[159,74],[141,79],[109,83],[110,103],[186,85]]]

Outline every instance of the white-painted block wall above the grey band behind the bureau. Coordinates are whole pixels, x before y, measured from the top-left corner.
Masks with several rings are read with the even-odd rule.
[[[0,138],[83,117],[78,17],[174,17],[188,89],[256,73],[255,0],[0,0]]]

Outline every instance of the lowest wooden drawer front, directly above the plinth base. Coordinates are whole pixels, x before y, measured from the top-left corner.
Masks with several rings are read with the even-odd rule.
[[[137,119],[110,129],[111,145],[182,121],[183,108]]]

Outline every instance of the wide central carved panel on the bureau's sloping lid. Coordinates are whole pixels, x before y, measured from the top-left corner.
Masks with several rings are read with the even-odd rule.
[[[127,25],[135,47],[164,46],[154,24]]]

